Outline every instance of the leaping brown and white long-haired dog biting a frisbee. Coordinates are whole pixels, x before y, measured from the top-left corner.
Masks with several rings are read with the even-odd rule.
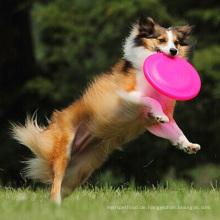
[[[173,119],[176,101],[156,91],[142,71],[144,60],[158,52],[190,60],[192,30],[188,25],[164,28],[140,16],[123,44],[123,59],[76,102],[55,110],[47,127],[39,126],[34,116],[24,126],[12,123],[13,138],[36,155],[27,161],[26,176],[51,183],[51,198],[60,204],[113,150],[146,130],[196,153],[200,145],[189,142]]]

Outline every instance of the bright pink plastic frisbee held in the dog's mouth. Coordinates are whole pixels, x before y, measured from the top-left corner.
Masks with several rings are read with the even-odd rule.
[[[175,100],[192,99],[201,88],[197,71],[180,57],[153,54],[145,60],[143,71],[156,90]]]

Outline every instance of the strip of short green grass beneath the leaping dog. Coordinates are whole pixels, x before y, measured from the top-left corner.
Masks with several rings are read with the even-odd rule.
[[[60,206],[49,190],[0,188],[1,220],[58,219],[219,219],[219,191],[186,186],[135,190],[78,189]],[[206,208],[206,209],[202,209]]]

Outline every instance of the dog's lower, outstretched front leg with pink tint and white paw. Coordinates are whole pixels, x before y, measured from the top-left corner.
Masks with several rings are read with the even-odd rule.
[[[152,125],[147,130],[156,136],[170,140],[174,146],[186,153],[193,154],[200,150],[200,145],[189,142],[173,119],[170,119],[170,122],[166,124]]]

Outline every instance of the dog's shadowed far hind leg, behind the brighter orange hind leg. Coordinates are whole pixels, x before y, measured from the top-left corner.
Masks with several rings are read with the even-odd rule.
[[[83,184],[106,159],[107,153],[98,145],[86,123],[80,123],[70,146],[70,159],[62,181],[61,197],[67,197]]]

